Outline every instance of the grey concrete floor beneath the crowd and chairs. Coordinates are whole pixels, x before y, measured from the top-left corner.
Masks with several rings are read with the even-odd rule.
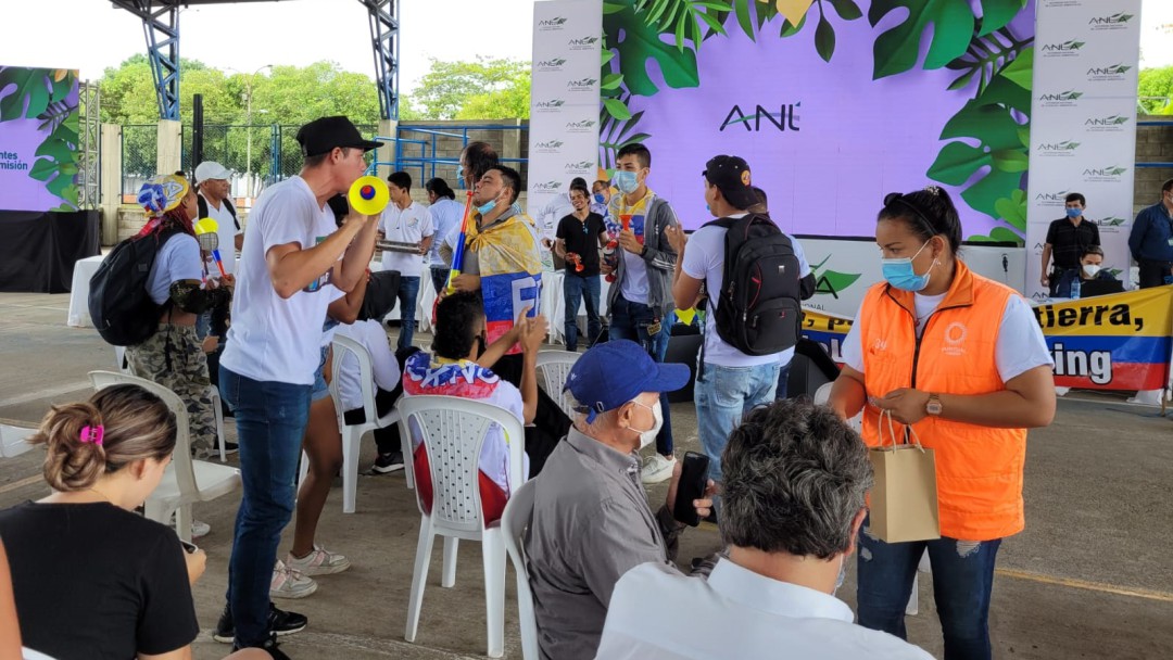
[[[67,307],[67,295],[0,294],[0,419],[35,423],[50,403],[87,396],[88,370],[113,368],[113,351],[94,331],[66,327]],[[685,440],[696,431],[692,407],[674,404],[672,420],[679,451],[698,450],[696,441]],[[371,460],[367,445],[364,463]],[[0,462],[0,506],[46,492],[35,454]],[[664,492],[663,485],[651,490],[653,506]],[[1173,656],[1173,421],[1128,406],[1123,396],[1077,393],[1060,400],[1055,424],[1030,436],[1025,497],[1026,530],[1003,544],[998,559],[990,621],[995,655]],[[199,542],[209,559],[195,588],[204,628],[198,660],[228,651],[211,640],[211,628],[223,607],[236,503],[226,497],[196,509],[212,526]],[[419,520],[401,474],[361,477],[353,515],[341,513],[340,489],[331,494],[319,539],[354,565],[320,578],[307,599],[278,603],[310,617],[305,632],[286,638],[292,656],[483,656],[484,591],[475,543],[461,544],[454,588],[440,587],[436,547],[419,637],[404,641]],[[706,554],[717,543],[711,525],[689,531],[680,559]],[[513,579],[510,569],[506,656],[521,658]],[[940,658],[931,588],[922,573],[921,613],[908,618],[908,631],[910,641]],[[854,605],[854,574],[841,594]]]

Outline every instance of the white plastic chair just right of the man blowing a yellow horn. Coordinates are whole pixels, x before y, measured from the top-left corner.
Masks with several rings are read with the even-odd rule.
[[[378,416],[374,404],[374,366],[366,346],[338,334],[334,335],[332,346],[334,358],[331,361],[330,397],[334,401],[334,415],[338,417],[338,429],[343,434],[343,513],[353,513],[359,487],[359,450],[362,445],[362,436],[374,429],[384,429],[399,422],[399,410],[392,409],[386,416]],[[359,363],[359,386],[362,388],[362,414],[366,420],[361,424],[347,424],[346,410],[343,408],[339,375],[343,373],[343,359],[346,353],[353,354]],[[408,456],[408,451],[405,450],[404,456]],[[303,453],[298,490],[300,490],[301,482],[305,481],[305,475],[308,471],[310,460]],[[407,474],[407,488],[414,488],[411,470],[405,470],[405,472]]]

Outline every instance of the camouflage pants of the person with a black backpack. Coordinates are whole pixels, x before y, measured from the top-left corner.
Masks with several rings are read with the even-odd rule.
[[[216,413],[212,409],[208,359],[196,328],[160,324],[150,339],[127,348],[135,375],[170,389],[188,407],[191,451],[197,458],[211,456],[216,445]]]

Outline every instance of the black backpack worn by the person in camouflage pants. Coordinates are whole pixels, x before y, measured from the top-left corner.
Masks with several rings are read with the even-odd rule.
[[[167,227],[114,246],[89,280],[89,317],[108,343],[136,346],[158,328],[162,305],[147,291],[155,257],[178,227]]]

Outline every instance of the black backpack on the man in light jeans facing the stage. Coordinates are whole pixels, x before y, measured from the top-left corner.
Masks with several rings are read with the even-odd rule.
[[[717,334],[746,355],[792,348],[802,319],[801,273],[789,237],[768,216],[719,218],[725,227],[725,279],[713,320]]]

